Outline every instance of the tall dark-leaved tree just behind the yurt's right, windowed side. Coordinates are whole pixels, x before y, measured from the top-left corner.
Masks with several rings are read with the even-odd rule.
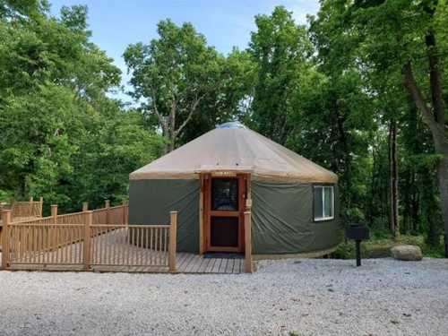
[[[381,100],[372,94],[368,77],[358,67],[351,47],[358,36],[345,31],[347,23],[340,7],[344,8],[341,2],[323,2],[318,17],[310,18],[308,34],[315,48],[315,66],[325,81],[323,91],[319,81],[311,80],[306,86],[311,94],[298,96],[301,104],[308,105],[301,114],[303,119],[296,123],[307,143],[300,152],[310,158],[322,156],[316,162],[331,161],[326,167],[340,177],[344,222],[367,221],[373,227],[376,218],[383,216],[384,202],[380,199],[376,204],[372,197],[378,181],[376,159],[381,158],[376,155],[381,146],[375,143],[383,134],[381,117],[376,116]]]

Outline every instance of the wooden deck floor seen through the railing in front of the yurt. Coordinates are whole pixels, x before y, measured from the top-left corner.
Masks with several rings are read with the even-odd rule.
[[[168,252],[130,245],[126,232],[125,229],[116,229],[91,238],[92,271],[168,272]],[[77,242],[52,251],[35,251],[15,257],[11,255],[10,269],[84,271],[82,244]],[[95,252],[99,247],[103,248],[105,255],[101,256]],[[190,253],[177,253],[176,257],[177,273],[239,274],[245,271],[244,259],[204,258],[199,254]],[[149,261],[158,261],[158,265],[150,265]]]

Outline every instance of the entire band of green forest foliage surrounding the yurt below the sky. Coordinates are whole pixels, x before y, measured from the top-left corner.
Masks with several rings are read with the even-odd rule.
[[[390,246],[393,122],[401,241],[439,255],[443,157],[402,71],[410,62],[431,97],[426,38],[434,32],[445,74],[446,0],[323,0],[307,27],[279,6],[227,56],[191,23],[161,21],[157,39],[125,50],[135,110],[108,98],[120,71],[90,41],[87,8],[63,7],[59,18],[48,8],[0,0],[0,200],[42,195],[63,211],[120,202],[135,168],[239,119],[338,174],[343,224],[371,228],[369,254]]]

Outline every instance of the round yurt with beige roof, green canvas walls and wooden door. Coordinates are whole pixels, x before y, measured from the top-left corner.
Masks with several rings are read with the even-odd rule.
[[[329,254],[340,241],[338,177],[237,122],[130,175],[129,223],[165,224],[178,211],[177,251]]]

